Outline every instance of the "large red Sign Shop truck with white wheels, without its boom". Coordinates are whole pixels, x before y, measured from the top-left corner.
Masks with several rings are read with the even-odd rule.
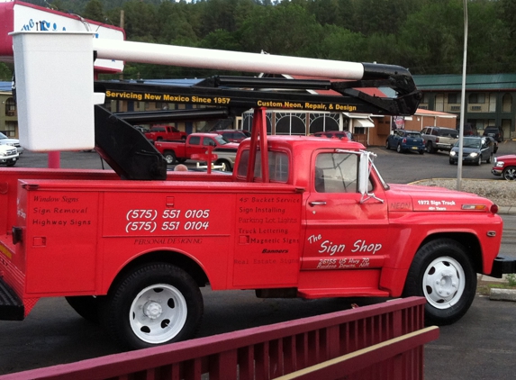
[[[0,168],[0,282],[23,302],[0,305],[0,318],[66,296],[142,348],[191,337],[205,285],[258,297],[420,295],[438,324],[466,313],[501,244],[490,200],[387,185],[358,142],[274,136],[267,147],[249,171],[242,142],[232,176]]]

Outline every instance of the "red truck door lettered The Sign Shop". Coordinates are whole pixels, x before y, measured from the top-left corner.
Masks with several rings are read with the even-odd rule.
[[[387,204],[381,202],[384,189],[369,178],[369,191],[376,197],[361,203],[359,159],[335,150],[313,153],[302,270],[383,266],[389,239]]]

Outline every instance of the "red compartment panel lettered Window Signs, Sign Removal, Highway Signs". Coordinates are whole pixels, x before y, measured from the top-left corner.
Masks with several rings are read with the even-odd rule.
[[[39,189],[24,198],[26,292],[94,291],[98,193]]]

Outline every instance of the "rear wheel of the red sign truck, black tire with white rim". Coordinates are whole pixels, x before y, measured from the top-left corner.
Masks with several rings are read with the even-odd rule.
[[[113,284],[99,314],[122,347],[139,349],[194,337],[203,312],[203,295],[191,276],[167,263],[150,263]]]

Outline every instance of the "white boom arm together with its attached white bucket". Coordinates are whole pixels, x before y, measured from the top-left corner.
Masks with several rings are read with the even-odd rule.
[[[95,147],[94,51],[100,59],[361,79],[356,62],[94,39],[91,32],[14,32],[20,140],[35,151]]]

